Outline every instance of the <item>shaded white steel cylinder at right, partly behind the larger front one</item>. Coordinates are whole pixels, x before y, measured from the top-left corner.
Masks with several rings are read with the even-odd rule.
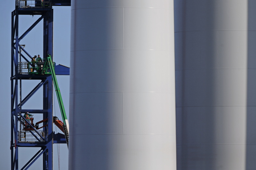
[[[256,167],[255,9],[174,1],[178,170]]]

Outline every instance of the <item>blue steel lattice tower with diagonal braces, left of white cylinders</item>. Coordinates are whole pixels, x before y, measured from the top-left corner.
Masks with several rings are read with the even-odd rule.
[[[32,2],[32,4],[28,4]],[[61,2],[61,3],[60,3]],[[70,6],[70,0],[62,1],[27,1],[16,0],[15,10],[12,11],[12,50],[11,50],[11,169],[28,169],[39,157],[43,157],[43,170],[52,170],[52,155],[54,143],[66,143],[63,134],[53,132],[52,123],[52,97],[53,84],[51,74],[38,74],[32,71],[33,63],[31,56],[20,41],[40,22],[43,22],[43,57],[52,56],[53,51],[53,9],[52,6]],[[27,31],[19,33],[20,15],[41,15]],[[21,54],[23,51],[23,54]],[[24,54],[25,53],[25,54]],[[25,97],[21,96],[22,82],[38,81],[39,83],[30,87],[32,89]],[[28,87],[27,87],[28,88]],[[43,92],[43,107],[39,109],[25,108],[30,98],[39,90]],[[25,106],[24,106],[25,105]],[[22,107],[23,106],[23,107]],[[22,107],[22,108],[21,108]],[[24,113],[40,115],[43,121],[37,122],[41,127],[35,126],[33,119],[27,120]],[[19,163],[20,147],[36,147],[38,152],[28,158],[28,162]],[[19,165],[21,167],[19,167]]]

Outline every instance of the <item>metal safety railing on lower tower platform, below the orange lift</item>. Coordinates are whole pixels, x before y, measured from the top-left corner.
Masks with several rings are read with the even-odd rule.
[[[45,138],[45,131],[38,130],[40,135]],[[19,142],[21,143],[41,143],[45,142],[42,137],[40,137],[33,130],[20,130],[19,131]]]

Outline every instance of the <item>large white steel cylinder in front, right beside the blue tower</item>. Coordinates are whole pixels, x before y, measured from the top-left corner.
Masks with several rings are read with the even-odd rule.
[[[69,169],[175,170],[172,0],[72,0]]]

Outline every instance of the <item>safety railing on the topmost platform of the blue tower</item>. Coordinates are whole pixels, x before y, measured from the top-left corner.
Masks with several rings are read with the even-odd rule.
[[[51,1],[45,0],[16,0],[18,8],[51,8]]]

